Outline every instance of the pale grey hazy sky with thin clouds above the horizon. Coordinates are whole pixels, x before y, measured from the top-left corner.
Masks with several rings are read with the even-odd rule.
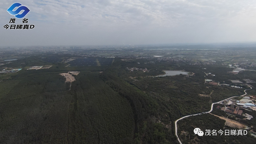
[[[3,27],[15,2],[34,29]],[[255,0],[0,0],[0,17],[0,46],[256,42]]]

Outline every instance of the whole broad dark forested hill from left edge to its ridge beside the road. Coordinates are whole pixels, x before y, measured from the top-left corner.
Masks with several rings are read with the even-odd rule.
[[[71,90],[59,75],[68,71],[80,71]],[[158,103],[111,68],[21,70],[1,75],[0,89],[1,144],[177,142],[157,122]]]

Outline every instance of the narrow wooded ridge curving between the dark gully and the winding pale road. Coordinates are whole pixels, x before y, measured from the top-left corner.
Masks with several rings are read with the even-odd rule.
[[[158,122],[160,105],[145,92],[130,85],[117,76],[113,69],[102,73],[102,78],[120,96],[126,98],[132,107],[135,120],[135,139],[142,143],[176,143],[173,123],[163,125]]]

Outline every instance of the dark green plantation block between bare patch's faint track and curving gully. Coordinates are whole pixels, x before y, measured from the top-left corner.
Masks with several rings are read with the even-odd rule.
[[[131,143],[134,118],[128,101],[99,78],[81,72],[72,85],[68,143]]]

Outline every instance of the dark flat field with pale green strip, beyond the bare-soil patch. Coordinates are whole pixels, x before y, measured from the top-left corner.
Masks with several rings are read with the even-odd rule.
[[[70,66],[108,66],[112,64],[112,61],[113,58],[93,57],[78,58],[68,63],[70,64]]]

